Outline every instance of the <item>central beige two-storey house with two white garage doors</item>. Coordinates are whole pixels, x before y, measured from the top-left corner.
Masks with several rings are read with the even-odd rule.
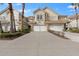
[[[59,15],[50,8],[37,9],[34,11],[35,19],[31,22],[33,31],[63,31],[67,16]]]

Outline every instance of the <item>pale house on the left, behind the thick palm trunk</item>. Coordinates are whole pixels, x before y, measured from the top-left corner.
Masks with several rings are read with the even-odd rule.
[[[13,9],[13,13],[14,13],[16,31],[18,31],[21,29],[22,15],[20,12],[18,12],[15,9]],[[10,15],[9,14],[10,14],[9,8],[6,8],[0,12],[0,21],[1,21],[2,29],[4,32],[10,31],[11,22],[10,22]]]

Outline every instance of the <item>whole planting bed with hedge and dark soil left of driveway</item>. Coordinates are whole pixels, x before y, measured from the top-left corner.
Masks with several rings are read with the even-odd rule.
[[[13,39],[20,37],[24,34],[27,34],[29,32],[30,32],[30,29],[24,29],[23,32],[17,31],[17,32],[14,32],[14,33],[3,32],[3,33],[0,33],[0,40],[13,40]]]

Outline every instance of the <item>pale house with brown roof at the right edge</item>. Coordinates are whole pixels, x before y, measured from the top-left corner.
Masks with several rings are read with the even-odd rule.
[[[79,14],[77,15],[78,20],[76,20],[76,15],[69,16],[68,19],[70,20],[68,27],[69,28],[76,28],[78,23],[79,28]]]

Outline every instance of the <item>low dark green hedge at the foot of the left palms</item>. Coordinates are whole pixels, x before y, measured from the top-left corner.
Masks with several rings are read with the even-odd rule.
[[[31,31],[31,28],[29,27],[28,29],[23,29],[22,31],[16,31],[14,33],[10,33],[10,32],[1,32],[0,33],[0,38],[10,38],[10,37],[18,37],[21,35],[24,35],[25,33],[29,33]]]

